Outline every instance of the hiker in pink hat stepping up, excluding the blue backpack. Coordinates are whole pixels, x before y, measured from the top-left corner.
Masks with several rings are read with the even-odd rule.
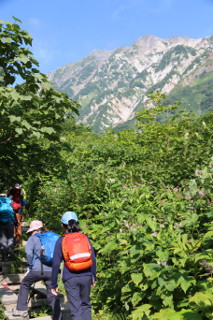
[[[49,234],[50,232],[43,227],[42,221],[34,220],[30,223],[30,228],[26,233],[30,235],[25,250],[29,269],[21,282],[17,305],[12,312],[13,316],[21,316],[23,318],[28,317],[27,299],[30,288],[32,284],[38,281],[44,281],[44,284],[47,288],[47,300],[49,305],[52,307],[53,320],[61,320],[62,312],[60,308],[60,301],[58,297],[51,293],[52,267],[50,265],[45,265],[40,261],[42,260],[42,245],[40,237],[42,235]]]

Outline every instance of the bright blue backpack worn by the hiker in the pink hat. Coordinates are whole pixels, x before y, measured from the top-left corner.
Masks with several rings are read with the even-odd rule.
[[[51,266],[53,261],[55,243],[58,240],[59,235],[54,232],[47,231],[44,233],[36,233],[35,236],[38,237],[41,241],[39,260],[42,264]]]

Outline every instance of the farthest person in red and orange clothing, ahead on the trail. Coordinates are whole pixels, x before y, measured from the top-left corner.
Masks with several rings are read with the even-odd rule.
[[[16,244],[21,244],[21,236],[22,236],[22,212],[23,212],[23,191],[22,187],[19,183],[15,184],[14,188],[10,188],[8,191],[8,197],[10,197],[12,201],[13,210],[16,216],[17,225],[15,227],[15,239]]]

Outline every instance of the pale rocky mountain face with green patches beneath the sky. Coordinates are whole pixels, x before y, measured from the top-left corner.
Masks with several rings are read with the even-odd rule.
[[[212,71],[213,37],[148,35],[130,47],[93,51],[47,76],[57,90],[82,105],[78,121],[101,132],[134,118],[146,105],[148,92],[160,90],[169,96]]]

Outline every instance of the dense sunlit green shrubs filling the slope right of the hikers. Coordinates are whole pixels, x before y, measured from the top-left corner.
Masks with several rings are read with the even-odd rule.
[[[66,179],[40,185],[36,216],[60,232],[61,212],[78,213],[97,252],[97,316],[211,319],[213,115],[172,117],[178,104],[150,98],[138,130],[67,122]]]

